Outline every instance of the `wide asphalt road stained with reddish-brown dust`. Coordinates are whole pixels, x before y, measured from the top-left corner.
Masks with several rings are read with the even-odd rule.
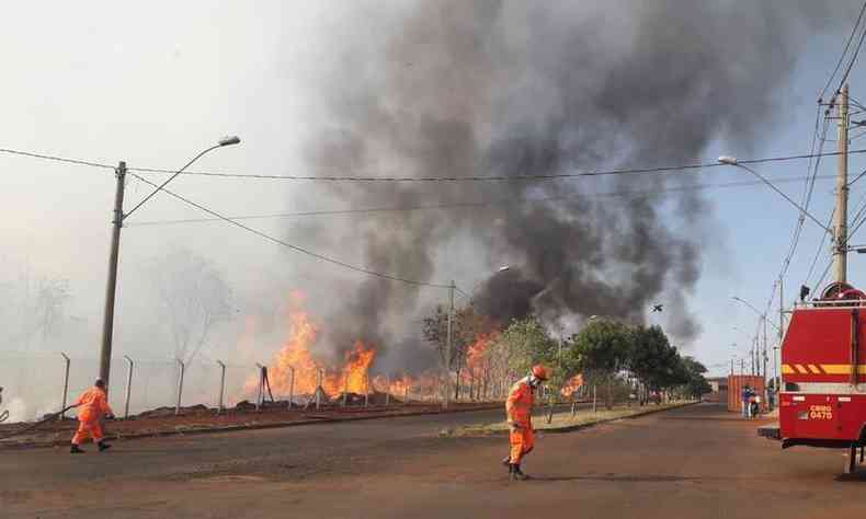
[[[866,475],[756,422],[692,406],[538,438],[508,482],[504,438],[442,438],[498,412],[0,451],[0,517],[866,517]],[[92,450],[92,449],[91,449]]]

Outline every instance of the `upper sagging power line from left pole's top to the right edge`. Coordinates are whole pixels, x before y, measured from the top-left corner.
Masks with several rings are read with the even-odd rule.
[[[866,149],[848,150],[848,154],[866,153]],[[804,153],[794,155],[768,157],[762,159],[739,160],[740,164],[766,164],[772,162],[786,162],[794,160],[816,159],[819,157],[835,157],[842,154],[839,151],[827,153]],[[584,176],[606,176],[606,175],[628,175],[646,173],[683,172],[690,170],[702,170],[707,168],[719,168],[718,161],[704,162],[696,164],[668,165],[658,168],[628,168],[616,170],[586,171],[580,173],[551,173],[534,175],[486,175],[486,176],[312,176],[312,175],[277,175],[261,173],[218,173],[205,171],[189,171],[184,175],[214,176],[223,178],[250,178],[250,180],[286,180],[286,181],[312,181],[312,182],[510,182],[510,181],[544,181],[560,178],[580,178]],[[168,173],[174,174],[176,170],[163,170],[155,168],[127,168],[127,171],[139,173]]]

